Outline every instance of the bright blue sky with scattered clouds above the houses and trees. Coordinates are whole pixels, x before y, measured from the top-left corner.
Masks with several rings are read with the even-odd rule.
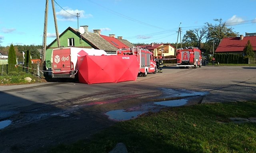
[[[56,38],[48,4],[47,45]],[[46,0],[1,0],[1,6],[0,45],[42,45]],[[55,0],[54,6],[59,34],[79,23],[131,43],[176,43],[179,25],[183,37],[220,18],[240,35],[256,32],[256,0]]]

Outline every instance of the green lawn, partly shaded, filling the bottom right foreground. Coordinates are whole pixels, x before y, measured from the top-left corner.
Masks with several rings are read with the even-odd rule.
[[[255,153],[256,123],[229,119],[255,118],[255,110],[256,101],[166,108],[119,122],[91,141],[60,145],[49,152],[108,153],[122,142],[129,153]]]

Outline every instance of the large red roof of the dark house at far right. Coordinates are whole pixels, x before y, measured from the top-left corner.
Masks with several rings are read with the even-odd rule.
[[[256,36],[244,37],[243,35],[240,35],[240,37],[223,38],[222,41],[220,41],[215,53],[242,54],[248,40],[250,40],[252,49],[254,51],[254,57],[256,57]]]

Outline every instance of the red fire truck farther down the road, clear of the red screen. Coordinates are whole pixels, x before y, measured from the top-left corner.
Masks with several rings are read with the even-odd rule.
[[[196,69],[202,66],[201,51],[197,47],[188,47],[177,50],[177,67],[192,67]]]

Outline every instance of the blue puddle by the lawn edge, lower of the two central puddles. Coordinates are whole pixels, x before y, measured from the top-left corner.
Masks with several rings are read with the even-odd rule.
[[[134,112],[125,112],[125,110],[111,110],[106,112],[108,118],[116,121],[125,121],[132,118],[137,118],[138,115],[141,115],[147,111],[134,111]]]

